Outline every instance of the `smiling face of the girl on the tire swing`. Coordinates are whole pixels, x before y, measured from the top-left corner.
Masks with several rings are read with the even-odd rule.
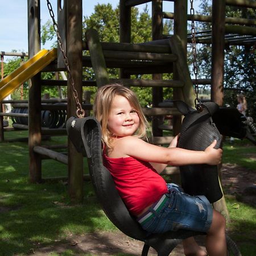
[[[139,116],[130,102],[123,96],[115,95],[110,106],[108,129],[118,137],[133,135],[139,127]]]

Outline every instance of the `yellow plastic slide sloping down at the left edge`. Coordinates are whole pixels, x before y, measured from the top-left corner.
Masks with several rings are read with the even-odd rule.
[[[15,71],[11,72],[0,81],[0,101],[23,84],[23,82],[31,79],[31,77],[42,71],[42,69],[55,60],[56,57],[57,49],[53,48],[49,51],[42,49],[31,57],[31,59],[20,65],[19,68],[15,69]]]

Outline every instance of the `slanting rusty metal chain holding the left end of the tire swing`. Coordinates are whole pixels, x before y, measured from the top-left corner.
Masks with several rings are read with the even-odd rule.
[[[73,80],[73,77],[72,77],[72,74],[71,74],[71,71],[70,71],[70,68],[69,68],[68,58],[65,55],[64,48],[63,48],[63,42],[61,40],[59,30],[58,30],[58,26],[57,26],[57,23],[55,21],[54,13],[53,13],[53,10],[52,10],[52,5],[48,0],[47,0],[47,7],[48,7],[48,10],[49,10],[49,14],[52,18],[53,29],[55,30],[56,35],[57,35],[57,40],[58,40],[58,43],[59,43],[59,46],[60,46],[60,51],[62,52],[62,55],[63,55],[63,61],[64,61],[64,64],[67,68],[68,78],[69,78],[69,81],[71,82],[71,86],[72,86],[72,89],[73,89],[73,96],[76,100],[76,108],[77,108],[76,116],[81,118],[81,117],[84,117],[85,111],[84,111],[84,109],[82,109],[82,106],[80,104],[79,96],[78,96],[77,90],[75,89],[75,82]]]

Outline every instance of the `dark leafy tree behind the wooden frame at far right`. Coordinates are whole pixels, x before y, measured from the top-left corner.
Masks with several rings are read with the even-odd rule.
[[[201,14],[210,15],[211,5],[204,1],[200,5]],[[254,19],[254,10],[226,6],[226,16]],[[210,30],[210,23],[199,23],[197,31]],[[197,47],[199,77],[210,77],[211,46],[200,44]],[[248,113],[256,119],[256,84],[255,84],[255,48],[253,46],[229,46],[226,44],[224,59],[224,102],[236,107],[237,94],[244,93],[247,98]]]

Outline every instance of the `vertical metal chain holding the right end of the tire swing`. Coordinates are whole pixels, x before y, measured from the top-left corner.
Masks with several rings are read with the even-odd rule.
[[[193,73],[195,75],[195,107],[198,111],[201,111],[201,101],[198,98],[199,85],[197,81],[197,56],[196,56],[196,28],[195,28],[195,9],[193,8],[193,0],[190,0],[190,15],[191,15],[191,35],[192,35],[192,53],[193,53]]]

